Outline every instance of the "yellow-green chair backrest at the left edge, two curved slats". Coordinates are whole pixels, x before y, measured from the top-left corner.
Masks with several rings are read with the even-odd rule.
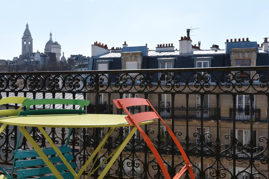
[[[20,96],[11,96],[0,99],[0,105],[5,104],[23,104],[24,100],[30,100],[31,98],[25,98]],[[4,109],[0,110],[0,116],[16,116],[18,115],[19,111],[22,109],[23,105],[19,107],[19,109]]]

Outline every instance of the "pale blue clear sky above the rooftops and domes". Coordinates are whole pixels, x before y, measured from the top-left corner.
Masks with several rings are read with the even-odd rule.
[[[249,38],[258,44],[269,37],[268,0],[260,1],[101,1],[101,0],[0,0],[0,59],[19,57],[28,22],[33,52],[44,52],[52,39],[61,44],[65,57],[91,56],[95,41],[108,48],[173,43],[191,33],[192,44],[201,49],[226,39]]]

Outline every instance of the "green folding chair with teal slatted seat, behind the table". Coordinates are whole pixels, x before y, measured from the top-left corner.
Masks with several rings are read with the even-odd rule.
[[[14,103],[14,102],[13,102]],[[63,105],[80,105],[79,109],[35,109],[30,110],[31,106],[33,105],[56,105],[56,104],[63,104]],[[88,100],[77,100],[77,99],[26,99],[22,102],[22,107],[26,107],[25,111],[17,111],[17,115],[49,115],[49,114],[85,114],[86,111],[83,110],[83,106],[88,106],[90,104],[90,101]],[[71,162],[73,160],[73,155],[69,154],[68,152],[71,152],[71,147],[68,146],[68,141],[72,133],[72,128],[70,128],[68,137],[66,139],[66,144],[63,146],[58,147],[63,156],[66,158],[68,163],[71,165],[73,169],[76,168],[76,163]],[[21,135],[21,133],[20,133]],[[18,141],[19,142],[19,141]],[[18,178],[27,178],[27,177],[33,177],[33,176],[40,176],[40,175],[48,175],[52,174],[51,170],[48,167],[39,167],[35,169],[25,169],[25,167],[34,167],[39,165],[45,165],[42,159],[31,159],[31,160],[23,160],[24,158],[33,158],[39,156],[37,152],[34,149],[31,150],[17,150],[18,143],[16,145],[16,149],[14,151],[14,162],[11,175],[9,175],[6,170],[0,168],[8,178],[12,178],[13,170],[14,169],[20,169],[17,171],[17,177]],[[51,147],[47,148],[41,148],[41,150],[46,155],[56,155],[56,152]],[[17,161],[16,161],[17,159]],[[49,157],[49,160],[56,164],[59,162],[62,162],[62,160],[58,156]],[[16,167],[14,165],[16,164]],[[61,173],[63,178],[73,178],[73,174],[70,171],[65,172],[64,170],[67,170],[68,168],[65,166],[65,164],[59,164],[55,166],[56,169]],[[76,171],[77,172],[77,171]],[[2,176],[3,177],[3,176]],[[0,176],[1,178],[1,176]],[[56,176],[49,175],[49,176],[41,176],[39,178],[56,178]]]

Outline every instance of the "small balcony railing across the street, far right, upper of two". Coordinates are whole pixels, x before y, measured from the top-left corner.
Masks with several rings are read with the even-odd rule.
[[[253,109],[252,110],[252,120],[253,121],[260,121],[261,120],[261,109]],[[233,116],[233,108],[230,108],[230,120],[232,120]],[[236,120],[244,120],[244,121],[249,121],[250,120],[250,109],[246,108],[237,108],[235,109],[235,118]]]

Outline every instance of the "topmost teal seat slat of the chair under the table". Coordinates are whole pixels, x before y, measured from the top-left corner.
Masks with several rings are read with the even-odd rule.
[[[60,146],[58,147],[61,153],[67,153],[71,152],[71,147],[70,146]],[[45,153],[45,155],[56,155],[56,152],[54,151],[53,148],[41,148],[42,151]],[[16,159],[21,159],[21,158],[32,158],[32,157],[38,157],[39,155],[37,154],[36,150],[30,149],[30,150],[18,150],[15,154],[14,157]]]

